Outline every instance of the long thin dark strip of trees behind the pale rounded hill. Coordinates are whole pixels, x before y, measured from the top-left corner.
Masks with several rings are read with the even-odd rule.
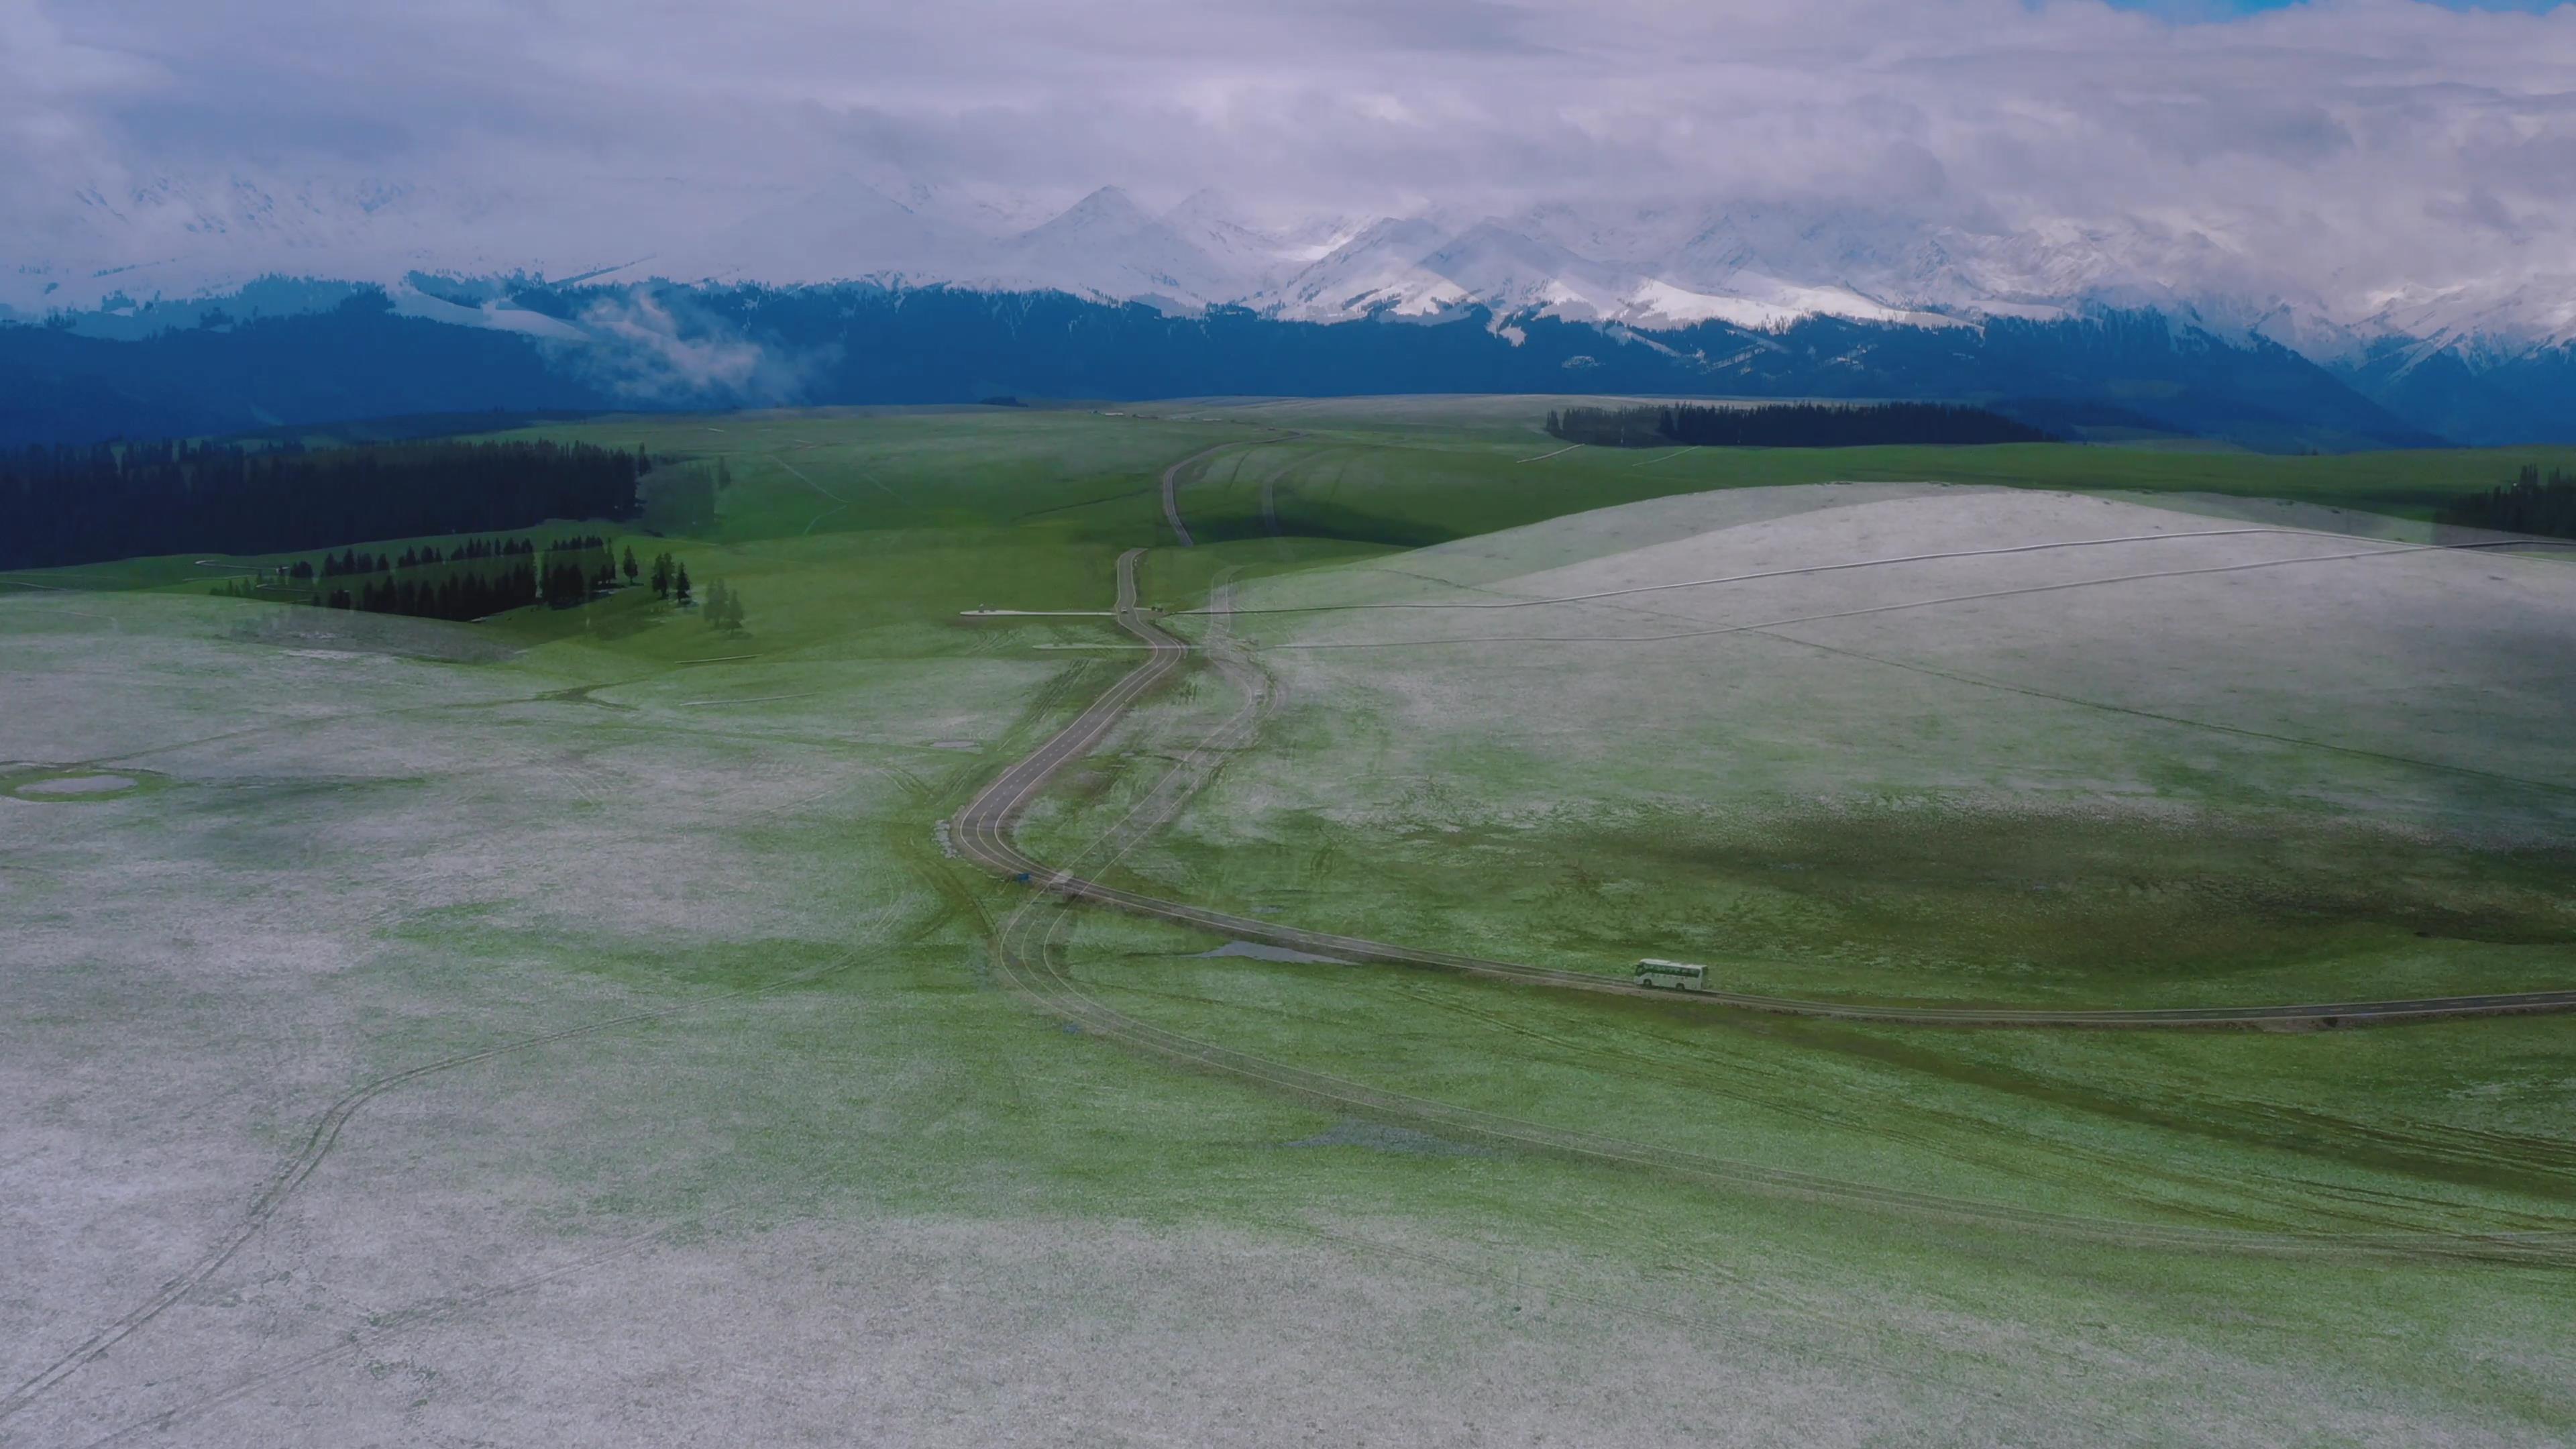
[[[1886,443],[2053,443],[1984,407],[1947,402],[1770,402],[1762,407],[1566,407],[1548,433],[1602,449],[1865,449]]]

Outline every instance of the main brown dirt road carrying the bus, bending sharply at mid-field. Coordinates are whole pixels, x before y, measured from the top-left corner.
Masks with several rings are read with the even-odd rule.
[[[1213,451],[1213,449],[1211,449]],[[1203,454],[1193,454],[1203,456]],[[1190,459],[1182,459],[1182,464]],[[1172,508],[1172,472],[1164,472],[1164,503]],[[1172,518],[1180,529],[1177,516]],[[1188,539],[1188,531],[1180,531]],[[1090,709],[1084,709],[1072,724],[1059,730],[1043,745],[1038,745],[1028,758],[1018,761],[1002,771],[981,794],[966,802],[951,822],[951,841],[958,853],[1005,877],[1028,877],[1048,892],[1069,900],[1090,900],[1100,905],[1113,905],[1136,915],[1151,915],[1159,920],[1175,920],[1182,926],[1195,926],[1221,936],[1234,936],[1239,941],[1262,941],[1270,946],[1285,946],[1291,951],[1306,951],[1316,957],[1342,957],[1352,962],[1378,962],[1394,967],[1427,967],[1445,972],[1466,972],[1494,980],[1512,980],[1528,985],[1548,985],[1564,990],[1595,990],[1607,995],[1638,995],[1669,1003],[1690,1006],[1721,1006],[1736,1011],[1765,1011],[1775,1016],[1816,1016],[1829,1021],[1870,1021],[1893,1026],[2092,1026],[2092,1029],[2177,1029],[2177,1026],[2236,1026],[2236,1029],[2272,1029],[2272,1031],[2316,1031],[2336,1026],[2383,1026],[2403,1021],[2439,1021],[2463,1016],[2530,1016],[2530,1013],[2555,1013],[2576,1011],[2576,990],[2524,990],[2524,993],[2499,993],[2499,995],[2437,995],[2416,1000],[2339,1000],[2339,1003],[2293,1003],[2293,1006],[2172,1006],[2172,1008],[2105,1008],[2105,1011],[2056,1011],[2056,1008],[2017,1008],[2017,1006],[1886,1006],[1886,1003],[1850,1003],[1850,1000],[1798,1000],[1780,995],[1752,995],[1734,990],[1656,990],[1641,987],[1618,977],[1600,972],[1569,972],[1558,967],[1530,967],[1520,962],[1494,962],[1484,957],[1463,957],[1455,951],[1432,951],[1419,946],[1394,946],[1386,941],[1368,941],[1360,936],[1337,936],[1332,931],[1303,931],[1296,926],[1280,926],[1273,920],[1257,920],[1252,915],[1231,915],[1224,910],[1208,910],[1200,905],[1188,905],[1177,900],[1159,900],[1151,895],[1139,895],[1133,890],[1121,890],[1069,869],[1048,866],[1036,856],[1025,853],[1012,841],[1012,828],[1028,802],[1046,789],[1046,784],[1066,763],[1082,758],[1100,745],[1103,737],[1118,724],[1136,699],[1170,678],[1180,663],[1188,657],[1190,645],[1154,624],[1144,608],[1136,603],[1136,562],[1144,549],[1128,549],[1118,554],[1118,606],[1113,616],[1118,627],[1144,639],[1146,657],[1133,670],[1118,678]]]

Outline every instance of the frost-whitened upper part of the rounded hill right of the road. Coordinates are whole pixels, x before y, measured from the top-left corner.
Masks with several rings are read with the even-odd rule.
[[[1528,763],[1476,781],[1497,802],[1587,779],[1713,804],[2246,789],[2563,825],[2566,789],[2524,784],[2576,786],[2576,567],[2383,523],[1942,485],[1710,492],[1270,583],[1244,632],[1293,696],[1383,719],[1347,768],[1497,750]],[[2208,781],[2159,792],[2166,766]]]

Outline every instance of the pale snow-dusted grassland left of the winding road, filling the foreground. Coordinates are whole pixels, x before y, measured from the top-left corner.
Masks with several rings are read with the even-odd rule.
[[[1718,1366],[1721,1415],[1582,1263],[1136,1222],[943,1142],[979,1096],[1064,1091],[971,1073],[961,987],[987,1031],[1095,1052],[974,993],[974,936],[904,949],[927,892],[876,838],[948,763],[930,735],[999,732],[1020,678],[824,670],[719,727],[706,699],[775,681],[564,694],[634,670],[237,614],[0,601],[0,758],[157,781],[0,797],[0,1392],[33,1390],[0,1444],[1803,1441],[1819,1382],[1837,1421],[1901,1415],[1793,1343]],[[1329,1124],[1273,1116],[1267,1160]]]

